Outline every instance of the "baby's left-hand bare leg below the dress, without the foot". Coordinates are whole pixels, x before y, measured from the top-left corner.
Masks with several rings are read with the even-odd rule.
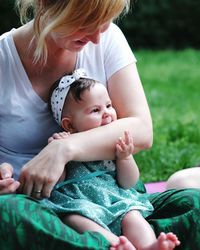
[[[96,222],[79,214],[66,215],[63,221],[79,233],[85,231],[98,232],[101,233],[111,244],[119,241],[119,238],[116,235],[101,227]]]

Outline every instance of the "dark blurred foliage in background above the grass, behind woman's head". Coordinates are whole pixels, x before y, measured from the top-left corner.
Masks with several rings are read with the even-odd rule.
[[[15,0],[0,1],[0,34],[20,25]],[[200,48],[199,0],[132,0],[118,25],[132,48]]]

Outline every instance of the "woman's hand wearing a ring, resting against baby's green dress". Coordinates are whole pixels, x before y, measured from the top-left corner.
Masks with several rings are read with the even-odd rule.
[[[70,150],[66,151],[65,142],[65,139],[53,140],[22,167],[19,178],[20,192],[38,199],[50,196],[65,164],[71,160],[66,159],[66,155],[70,155]]]

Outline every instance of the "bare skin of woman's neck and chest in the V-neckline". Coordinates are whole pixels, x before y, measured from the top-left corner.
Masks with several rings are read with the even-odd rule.
[[[48,47],[51,49],[49,50],[46,64],[34,63],[35,41],[33,22],[16,29],[13,33],[13,39],[33,89],[42,99],[47,100],[53,83],[63,75],[74,70],[77,54],[61,50],[53,42],[48,41]]]

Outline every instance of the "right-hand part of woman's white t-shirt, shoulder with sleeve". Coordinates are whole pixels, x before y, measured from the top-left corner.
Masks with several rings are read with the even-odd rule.
[[[135,61],[122,31],[116,24],[111,23],[101,34],[98,44],[88,42],[79,52],[77,67],[84,68],[89,77],[106,85],[112,74]]]

